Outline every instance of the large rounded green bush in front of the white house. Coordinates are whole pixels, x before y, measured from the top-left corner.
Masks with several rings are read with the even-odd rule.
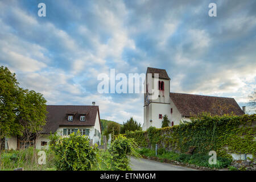
[[[87,171],[97,162],[97,147],[90,146],[89,138],[80,131],[60,138],[51,145],[55,152],[55,166],[61,171]]]

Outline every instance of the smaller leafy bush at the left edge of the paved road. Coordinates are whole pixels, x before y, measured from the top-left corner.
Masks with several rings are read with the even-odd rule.
[[[135,158],[140,158],[137,150],[138,145],[134,142],[134,139],[127,139],[122,135],[116,137],[109,148],[109,153],[111,156],[111,170],[131,170],[130,160],[127,155],[134,156]]]

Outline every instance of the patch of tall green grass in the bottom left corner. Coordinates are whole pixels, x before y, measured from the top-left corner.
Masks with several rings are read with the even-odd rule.
[[[1,155],[3,171],[13,171],[15,168],[22,167],[25,171],[55,171],[54,154],[51,150],[46,152],[46,164],[38,164],[38,152],[33,147],[24,150],[3,151]]]

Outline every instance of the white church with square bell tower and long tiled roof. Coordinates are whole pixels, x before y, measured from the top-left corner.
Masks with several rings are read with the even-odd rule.
[[[235,115],[245,114],[237,104],[234,98],[201,96],[196,94],[172,93],[170,92],[171,79],[165,69],[147,68],[146,74],[152,74],[152,83],[144,81],[144,123],[143,130],[154,126],[162,127],[163,117],[166,114],[170,120],[170,126],[179,125],[180,121],[191,121],[192,115],[197,115],[202,112],[208,112],[212,115],[222,115],[233,113]],[[154,89],[154,74],[158,73],[158,98],[149,100],[148,95],[151,93],[149,84]]]

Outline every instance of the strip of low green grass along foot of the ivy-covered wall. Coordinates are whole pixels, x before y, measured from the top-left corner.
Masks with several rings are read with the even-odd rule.
[[[160,162],[163,162],[164,159],[171,160],[171,161],[177,161],[184,164],[195,164],[196,166],[200,167],[209,167],[209,168],[226,168],[228,167],[232,160],[221,158],[217,156],[217,164],[209,164],[208,160],[210,156],[208,155],[202,155],[202,154],[179,154],[174,151],[165,151],[163,148],[160,148],[158,150],[158,155],[155,155],[155,150],[150,150],[148,148],[142,148],[138,151],[139,154],[148,156],[148,157],[158,157],[160,159]]]

